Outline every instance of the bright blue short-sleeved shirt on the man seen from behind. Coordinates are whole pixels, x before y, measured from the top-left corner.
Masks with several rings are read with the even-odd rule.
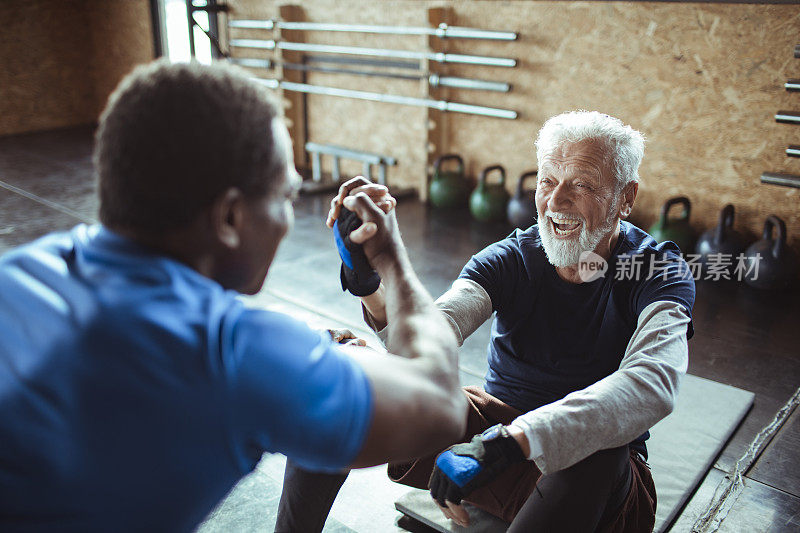
[[[363,370],[102,226],[0,258],[0,531],[189,531],[264,452],[360,450]]]

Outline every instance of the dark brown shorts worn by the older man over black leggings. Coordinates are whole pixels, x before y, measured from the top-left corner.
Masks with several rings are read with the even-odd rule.
[[[522,414],[479,387],[465,387],[464,393],[469,402],[469,414],[467,430],[460,442],[468,442],[473,435],[495,424],[510,424]],[[390,464],[389,478],[404,485],[427,489],[437,455],[410,463]],[[619,511],[603,516],[600,524],[603,532],[639,533],[653,530],[656,491],[650,469],[634,452],[630,452],[630,468],[630,489]],[[492,483],[475,490],[465,501],[511,522],[528,501],[541,476],[533,461],[525,461],[509,468]]]

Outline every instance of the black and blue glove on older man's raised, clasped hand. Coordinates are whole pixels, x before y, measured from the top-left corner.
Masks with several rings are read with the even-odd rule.
[[[350,291],[354,296],[369,296],[378,290],[381,277],[367,261],[364,248],[350,240],[350,233],[360,226],[358,215],[342,206],[339,218],[333,223],[333,240],[342,258],[339,272],[342,290]]]

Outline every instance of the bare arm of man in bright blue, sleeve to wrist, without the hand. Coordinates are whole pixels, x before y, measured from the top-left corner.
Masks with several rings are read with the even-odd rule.
[[[375,414],[355,466],[408,460],[441,449],[463,434],[467,419],[455,335],[444,316],[406,257],[376,268],[391,323],[389,353],[359,360],[370,376]]]

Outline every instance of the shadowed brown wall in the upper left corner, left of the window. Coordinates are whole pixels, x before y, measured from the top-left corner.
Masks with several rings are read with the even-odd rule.
[[[4,0],[0,135],[95,122],[153,58],[147,0]]]

